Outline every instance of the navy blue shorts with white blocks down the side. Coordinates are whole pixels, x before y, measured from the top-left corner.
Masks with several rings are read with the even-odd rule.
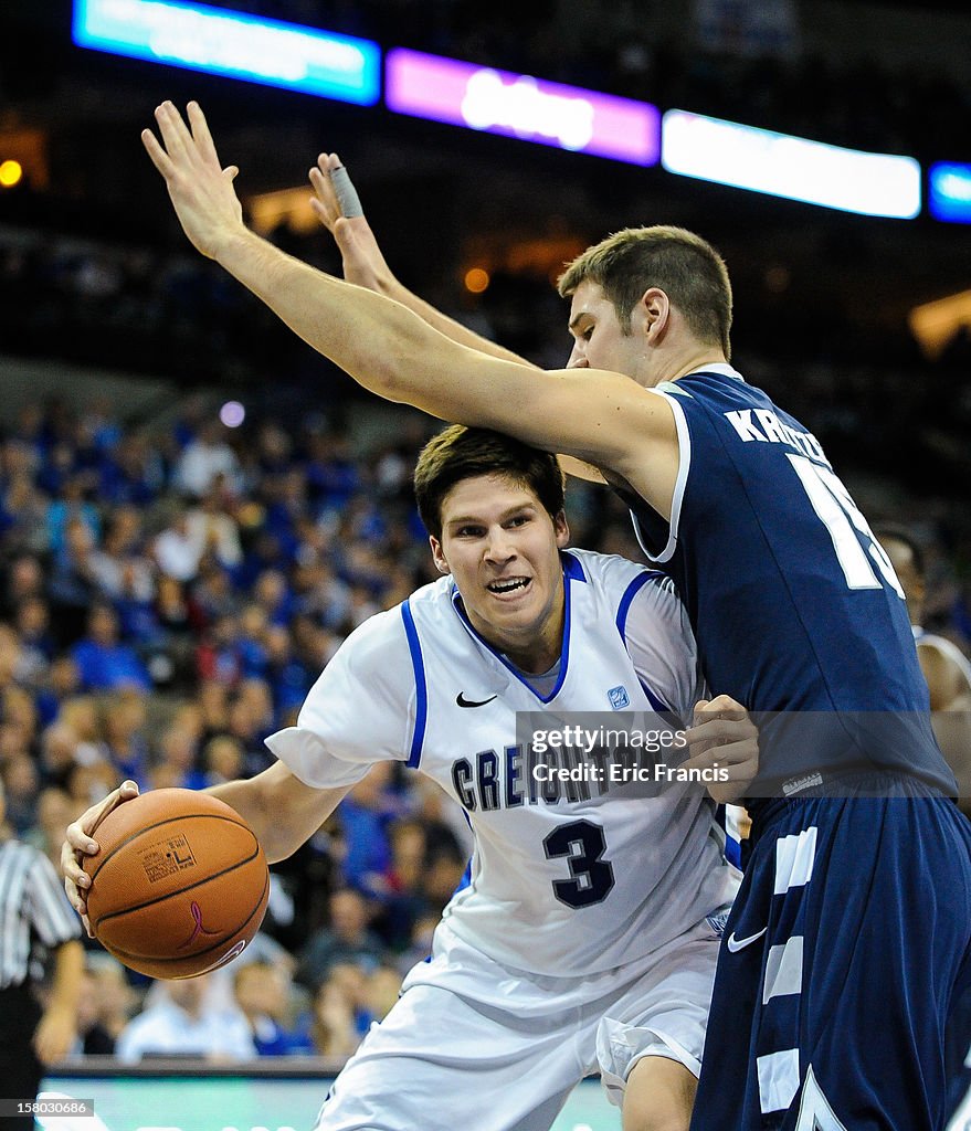
[[[957,806],[781,803],[725,925],[691,1131],[944,1131],[969,991]]]

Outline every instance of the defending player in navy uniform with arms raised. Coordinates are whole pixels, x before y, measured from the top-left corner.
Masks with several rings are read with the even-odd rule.
[[[971,832],[900,582],[815,437],[729,364],[714,249],[620,232],[572,264],[569,366],[476,352],[250,232],[198,105],[143,141],[186,234],[360,385],[601,469],[676,581],[708,683],[755,711],[753,851],[695,1131],[936,1131],[971,981]],[[793,741],[794,740],[794,741]]]

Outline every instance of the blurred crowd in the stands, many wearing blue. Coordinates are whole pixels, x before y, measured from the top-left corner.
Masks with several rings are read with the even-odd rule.
[[[310,413],[292,431],[269,416],[230,430],[199,397],[138,429],[102,404],[27,403],[0,440],[0,775],[15,834],[55,860],[67,823],[123,778],[200,788],[265,768],[263,740],[293,723],[342,639],[433,576],[410,492],[433,428],[404,417],[366,450]],[[637,556],[609,493],[568,499],[577,544]],[[931,627],[966,647],[948,547],[928,550]],[[457,806],[377,766],[274,866],[242,965],[149,987],[86,940],[78,1051],[137,1060],[173,1035],[184,1052],[189,1034],[215,1057],[346,1056],[428,953],[467,853]]]

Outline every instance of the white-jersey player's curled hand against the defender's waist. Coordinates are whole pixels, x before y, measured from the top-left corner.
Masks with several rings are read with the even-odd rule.
[[[682,767],[725,769],[728,782],[713,782],[708,793],[719,804],[745,796],[758,772],[758,728],[731,696],[699,699],[694,725],[686,732],[691,757]]]

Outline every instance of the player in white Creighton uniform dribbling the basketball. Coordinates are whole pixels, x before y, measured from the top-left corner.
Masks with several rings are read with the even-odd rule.
[[[516,713],[545,713],[547,726],[637,713],[672,733],[669,713],[697,705],[681,768],[725,770],[720,801],[755,774],[755,728],[732,700],[705,698],[669,582],[564,549],[553,456],[453,426],[424,449],[415,491],[442,578],[347,638],[297,726],[267,740],[276,766],[210,791],[273,862],[393,759],[438,782],[475,835],[430,960],[341,1072],[318,1128],[543,1131],[599,1069],[627,1131],[686,1129],[737,887],[712,800],[524,742]],[[87,830],[135,792],[126,783],[68,829],[62,867],[81,914]]]

